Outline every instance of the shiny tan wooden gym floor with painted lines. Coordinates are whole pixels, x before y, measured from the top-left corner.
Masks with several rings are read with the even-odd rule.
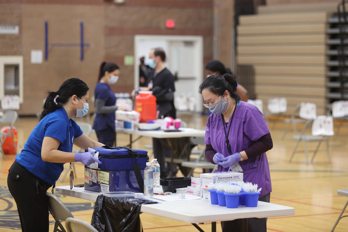
[[[188,127],[202,129],[205,126],[207,116],[180,115],[180,118],[187,122]],[[23,148],[24,142],[37,123],[37,118],[20,119],[20,126],[16,127],[19,150]],[[91,121],[91,123],[93,122]],[[269,127],[273,128],[273,123],[270,123]],[[312,164],[306,164],[304,153],[301,152],[296,153],[293,162],[289,163],[288,160],[295,145],[292,134],[290,131],[285,140],[281,140],[283,130],[281,123],[278,122],[275,128],[271,129],[273,149],[267,152],[267,157],[273,190],[270,201],[294,207],[295,215],[268,218],[267,229],[278,232],[330,231],[347,201],[346,197],[337,195],[338,189],[348,188],[347,127],[343,126],[339,135],[330,137],[331,163],[328,163],[325,151],[318,152],[315,162]],[[96,138],[94,134],[91,134],[91,137]],[[118,145],[126,145],[129,137],[119,133],[117,139]],[[150,138],[143,137],[135,142],[133,147],[146,150],[145,145],[151,144]],[[316,142],[311,143],[309,149],[314,149],[316,145]],[[321,146],[321,148],[325,148],[325,144]],[[303,150],[303,143],[300,144],[299,149]],[[150,159],[152,159],[152,150],[148,149],[148,151]],[[309,153],[309,157],[311,155],[312,153]],[[21,230],[16,204],[7,190],[8,169],[13,163],[15,155],[6,155],[6,157],[7,161],[3,158],[0,160],[0,231],[4,232]],[[64,167],[68,168],[68,164],[65,164]],[[201,171],[196,169],[194,176],[198,177]],[[84,183],[84,168],[81,163],[76,163],[76,172],[77,178],[75,178],[74,183]],[[182,176],[180,171],[177,176]],[[69,185],[69,178],[65,178],[63,183],[58,180],[56,185]],[[90,223],[94,202],[67,196],[61,196],[61,200],[68,206],[75,218]],[[345,214],[347,213],[348,209],[345,211]],[[189,223],[150,214],[141,214],[140,217],[146,232],[197,231]],[[211,230],[209,223],[200,226],[205,231]],[[53,228],[54,220],[50,217],[50,231],[53,231]],[[221,231],[220,222],[217,223],[217,231]],[[347,217],[341,219],[335,231],[348,231]]]

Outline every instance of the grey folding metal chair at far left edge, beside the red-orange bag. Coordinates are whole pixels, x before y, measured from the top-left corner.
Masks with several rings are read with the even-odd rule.
[[[10,130],[8,130],[6,133],[0,133],[0,147],[1,147],[0,151],[1,151],[2,156],[5,158],[5,160],[7,160],[7,158],[5,157],[5,154],[3,153],[2,145],[5,143],[5,139],[9,136],[12,136],[13,145],[15,147],[16,154],[18,154],[16,140],[15,140],[15,133],[13,131],[13,124],[15,124],[17,117],[18,117],[18,114],[16,111],[7,110],[7,111],[5,111],[3,116],[0,118],[0,126],[2,126],[3,123],[9,124],[9,126],[10,126]]]

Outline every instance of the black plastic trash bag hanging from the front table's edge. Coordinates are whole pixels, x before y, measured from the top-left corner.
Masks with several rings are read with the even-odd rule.
[[[156,204],[132,197],[110,198],[99,195],[95,201],[91,225],[100,232],[142,232],[142,204]]]

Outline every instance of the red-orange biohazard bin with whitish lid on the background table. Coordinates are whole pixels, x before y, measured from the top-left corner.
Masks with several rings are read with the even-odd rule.
[[[135,97],[135,110],[141,115],[141,123],[156,119],[156,100],[151,91],[139,91],[139,94]]]

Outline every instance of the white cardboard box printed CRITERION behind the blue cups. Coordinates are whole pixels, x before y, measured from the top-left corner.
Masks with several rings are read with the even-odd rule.
[[[210,201],[209,185],[214,183],[226,183],[229,181],[243,181],[242,172],[221,172],[221,173],[201,173],[200,174],[200,197],[202,200]]]

